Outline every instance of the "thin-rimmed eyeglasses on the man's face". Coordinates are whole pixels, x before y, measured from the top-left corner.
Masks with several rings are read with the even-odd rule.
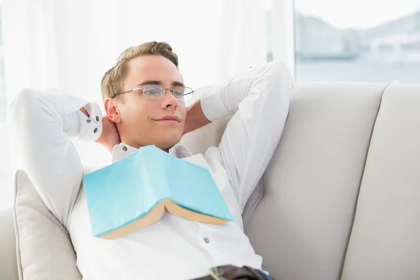
[[[170,90],[172,95],[180,101],[186,101],[193,97],[194,90],[191,87],[176,86],[174,88],[161,87],[160,85],[142,85],[141,87],[134,88],[133,90],[126,90],[124,92],[118,92],[113,94],[113,97],[116,97],[118,94],[123,94],[127,92],[134,92],[136,90],[141,90],[143,95],[147,99],[162,99],[165,96],[165,92]]]

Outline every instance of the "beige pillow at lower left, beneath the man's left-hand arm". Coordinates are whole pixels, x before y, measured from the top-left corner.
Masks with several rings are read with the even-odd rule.
[[[14,215],[20,279],[82,279],[68,232],[22,170],[15,179]]]

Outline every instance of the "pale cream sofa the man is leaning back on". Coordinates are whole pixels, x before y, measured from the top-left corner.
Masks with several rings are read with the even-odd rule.
[[[202,152],[226,122],[183,143]],[[420,279],[419,86],[298,85],[262,183],[246,233],[276,279]],[[17,279],[11,209],[0,227],[0,279]]]

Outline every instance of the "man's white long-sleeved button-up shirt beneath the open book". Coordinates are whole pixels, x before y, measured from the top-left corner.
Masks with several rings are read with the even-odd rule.
[[[97,104],[57,91],[24,90],[10,106],[13,142],[36,190],[66,227],[83,279],[193,279],[218,265],[261,269],[244,234],[241,214],[265,172],[288,115],[293,80],[272,62],[248,69],[225,85],[197,90],[211,121],[231,116],[221,144],[191,155],[176,145],[169,153],[209,169],[235,221],[208,225],[171,214],[115,240],[92,236],[82,176],[86,174],[71,138],[94,141],[102,132]],[[85,106],[90,118],[79,111]],[[113,148],[113,162],[136,151]],[[80,187],[81,186],[81,187]]]

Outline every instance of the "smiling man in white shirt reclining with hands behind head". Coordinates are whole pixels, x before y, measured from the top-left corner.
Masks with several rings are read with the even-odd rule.
[[[197,90],[202,99],[187,109],[192,90],[183,85],[176,54],[167,43],[150,42],[125,50],[105,73],[103,117],[97,104],[78,97],[24,90],[9,120],[23,168],[69,231],[83,279],[194,279],[221,265],[261,269],[241,213],[281,137],[292,87],[286,66],[272,62]],[[183,134],[226,116],[232,119],[218,147],[191,155],[178,144]],[[155,145],[206,167],[235,221],[217,226],[165,214],[125,237],[92,237],[82,182],[87,171],[71,138],[97,141],[113,162]]]

